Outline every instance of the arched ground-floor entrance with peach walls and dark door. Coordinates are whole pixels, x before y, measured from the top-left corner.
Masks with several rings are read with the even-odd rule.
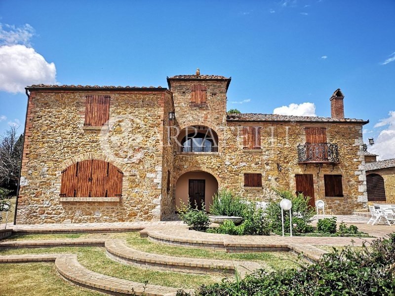
[[[218,181],[213,175],[204,171],[190,171],[182,174],[176,182],[176,208],[187,205],[202,208],[208,212],[213,197],[218,191]]]

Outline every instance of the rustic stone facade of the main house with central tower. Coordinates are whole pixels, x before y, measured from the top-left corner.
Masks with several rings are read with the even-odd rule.
[[[274,119],[268,115],[263,120],[231,120],[226,113],[230,78],[182,75],[167,81],[169,90],[29,87],[17,223],[162,220],[176,210],[177,180],[189,172],[210,174],[218,188],[256,201],[274,198],[273,188],[295,192],[295,174],[312,174],[315,199],[324,200],[328,211],[351,214],[364,207],[365,121],[274,115],[270,115]],[[198,106],[191,104],[195,84],[205,91],[205,101]],[[84,126],[86,95],[111,97],[108,127]],[[169,112],[175,112],[175,119]],[[179,133],[191,126],[214,131],[218,149],[178,153]],[[260,149],[243,149],[243,126],[260,127]],[[326,128],[327,142],[338,145],[339,163],[298,161],[297,147],[306,142],[306,127]],[[60,201],[62,171],[87,159],[104,160],[123,173],[121,197]],[[262,186],[245,187],[246,173],[261,174]],[[342,175],[343,197],[325,196],[327,174]]]

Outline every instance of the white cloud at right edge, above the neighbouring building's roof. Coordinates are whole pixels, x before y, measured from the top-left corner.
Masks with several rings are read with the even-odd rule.
[[[375,139],[375,144],[369,147],[369,152],[379,155],[379,159],[395,158],[395,111],[388,113],[388,118],[381,119],[374,127],[383,127],[379,136]]]

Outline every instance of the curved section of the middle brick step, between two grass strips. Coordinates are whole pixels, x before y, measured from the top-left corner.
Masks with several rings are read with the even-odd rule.
[[[244,277],[255,269],[262,268],[260,264],[250,261],[195,259],[146,253],[130,248],[121,240],[107,240],[105,246],[107,255],[121,263],[160,270],[202,274],[235,274],[237,270]]]

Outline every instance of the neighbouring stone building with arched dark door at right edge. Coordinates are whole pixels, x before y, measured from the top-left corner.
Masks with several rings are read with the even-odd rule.
[[[367,153],[366,185],[368,201],[395,204],[395,158],[376,161],[375,154]]]

